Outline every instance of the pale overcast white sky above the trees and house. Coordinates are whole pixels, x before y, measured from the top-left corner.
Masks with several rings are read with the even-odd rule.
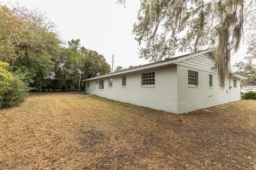
[[[126,0],[126,7],[115,0],[1,1],[1,4],[7,3],[19,3],[45,12],[45,16],[57,25],[62,40],[80,39],[82,46],[105,56],[110,65],[114,54],[114,69],[119,65],[129,67],[149,62],[139,58],[139,44],[132,34],[133,24],[137,22],[139,0]],[[246,44],[243,44],[231,57],[231,65],[243,60],[246,49]]]

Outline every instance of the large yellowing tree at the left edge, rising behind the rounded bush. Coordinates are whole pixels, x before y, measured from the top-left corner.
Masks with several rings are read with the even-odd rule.
[[[60,46],[50,31],[53,24],[41,12],[4,5],[0,5],[0,21],[0,61],[9,63],[11,72],[27,75],[23,81],[40,90]]]

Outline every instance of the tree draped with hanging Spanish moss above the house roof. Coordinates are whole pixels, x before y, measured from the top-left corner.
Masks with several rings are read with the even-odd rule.
[[[159,61],[172,57],[177,49],[198,52],[214,48],[223,87],[230,55],[237,52],[243,32],[256,27],[255,7],[254,0],[141,0],[133,28],[142,46],[140,57]]]

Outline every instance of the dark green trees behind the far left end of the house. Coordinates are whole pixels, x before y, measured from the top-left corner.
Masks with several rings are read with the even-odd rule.
[[[81,47],[79,42],[79,39],[72,39],[68,42],[69,47],[61,48],[59,56],[53,58],[55,65],[50,77],[54,91],[57,88],[80,91],[83,79],[110,72],[110,66],[102,55]]]

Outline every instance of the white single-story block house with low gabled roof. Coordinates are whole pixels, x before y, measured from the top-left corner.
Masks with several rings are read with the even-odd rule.
[[[86,94],[187,113],[240,100],[240,80],[246,78],[230,71],[225,88],[221,88],[213,67],[214,57],[209,49],[83,81]]]

